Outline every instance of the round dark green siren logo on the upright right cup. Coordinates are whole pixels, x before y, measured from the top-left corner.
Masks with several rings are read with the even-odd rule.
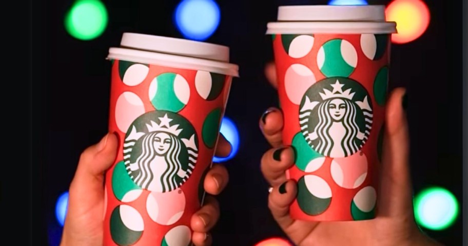
[[[299,111],[302,134],[316,152],[339,158],[358,152],[371,134],[372,102],[358,82],[328,78],[304,94]]]

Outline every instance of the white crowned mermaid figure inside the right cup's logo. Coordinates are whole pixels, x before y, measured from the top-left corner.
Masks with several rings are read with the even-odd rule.
[[[317,115],[314,116],[318,119],[317,125],[311,133],[308,131],[303,133],[309,145],[318,153],[335,158],[347,157],[358,152],[367,140],[368,130],[371,128],[369,123],[372,123],[368,117],[372,117],[372,109],[368,105],[367,97],[363,100],[365,103],[353,102],[354,92],[350,93],[350,89],[343,92],[341,90],[343,84],[338,83],[332,86],[335,88],[333,92],[324,89],[325,93],[320,93],[322,102],[310,103],[308,101],[301,110],[303,113],[303,111],[318,107]],[[361,110],[358,110],[358,107]],[[301,122],[310,122],[311,113],[303,113],[302,116],[304,115],[307,115],[309,119]],[[359,127],[357,117],[366,118],[365,131]]]

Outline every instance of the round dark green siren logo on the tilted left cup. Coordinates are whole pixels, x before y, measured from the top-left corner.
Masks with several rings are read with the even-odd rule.
[[[198,138],[184,117],[152,111],[130,125],[123,151],[135,184],[152,192],[170,192],[190,177],[197,163]]]

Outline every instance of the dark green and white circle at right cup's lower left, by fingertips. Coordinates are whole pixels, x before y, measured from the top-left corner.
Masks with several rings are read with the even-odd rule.
[[[322,214],[332,202],[332,189],[322,178],[305,175],[298,181],[297,202],[300,209],[308,215]]]

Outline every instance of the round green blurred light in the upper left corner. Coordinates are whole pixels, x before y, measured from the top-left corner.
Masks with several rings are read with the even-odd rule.
[[[106,6],[99,0],[78,0],[65,16],[65,29],[79,40],[92,40],[107,27]]]

